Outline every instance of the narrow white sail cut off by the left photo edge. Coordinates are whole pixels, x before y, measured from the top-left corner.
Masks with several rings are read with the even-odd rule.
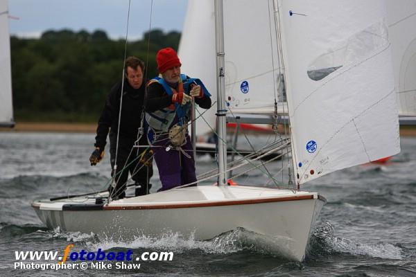
[[[8,3],[0,1],[0,127],[12,127],[12,76],[10,69],[10,35]]]

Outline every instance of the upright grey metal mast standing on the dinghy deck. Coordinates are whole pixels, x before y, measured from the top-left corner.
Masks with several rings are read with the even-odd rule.
[[[218,186],[227,185],[227,129],[225,127],[225,58],[224,58],[224,22],[223,22],[223,1],[215,0],[215,40],[216,40],[216,87],[217,87],[217,134],[218,134]]]

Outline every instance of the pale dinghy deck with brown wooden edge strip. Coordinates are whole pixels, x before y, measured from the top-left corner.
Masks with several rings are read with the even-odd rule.
[[[33,202],[32,206],[33,208],[51,211],[130,210],[227,206],[316,199],[318,197],[323,199],[318,193],[259,186],[193,186],[175,188],[150,195],[119,199],[109,204],[105,203],[107,196],[108,193],[98,193],[63,199],[44,199]],[[99,201],[97,202],[96,199]]]

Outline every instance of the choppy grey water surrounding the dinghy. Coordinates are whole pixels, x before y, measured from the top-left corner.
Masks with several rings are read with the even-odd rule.
[[[90,167],[93,134],[0,133],[0,276],[416,276],[416,139],[385,165],[334,172],[307,184],[328,202],[304,262],[284,260],[254,233],[236,229],[209,241],[162,233],[116,242],[94,234],[48,230],[31,208],[33,199],[105,188],[108,156]],[[198,171],[213,166],[198,157]],[[280,163],[269,165],[277,172]],[[156,171],[157,175],[157,171]],[[253,172],[243,181],[266,180]],[[155,191],[159,186],[153,179]],[[259,215],[261,216],[261,215]],[[135,220],[140,220],[139,218]],[[135,269],[13,269],[15,251],[173,251],[172,261],[141,261]]]

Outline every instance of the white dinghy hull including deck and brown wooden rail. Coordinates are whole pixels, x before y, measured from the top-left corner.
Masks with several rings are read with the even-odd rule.
[[[181,188],[109,205],[88,201],[80,197],[37,201],[32,206],[51,229],[92,232],[113,240],[168,231],[207,240],[242,227],[262,235],[281,256],[297,261],[304,258],[309,235],[325,202],[316,193],[250,186]],[[99,210],[92,211],[94,208]]]

